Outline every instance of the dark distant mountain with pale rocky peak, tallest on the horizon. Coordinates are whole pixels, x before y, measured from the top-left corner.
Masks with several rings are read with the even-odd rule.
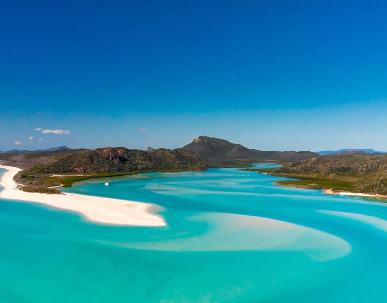
[[[200,136],[183,149],[196,152],[199,156],[216,161],[301,161],[318,154],[311,151],[260,151],[249,149],[227,140]]]

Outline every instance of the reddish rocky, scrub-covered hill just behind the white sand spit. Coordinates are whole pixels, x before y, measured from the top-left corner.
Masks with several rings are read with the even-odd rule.
[[[68,151],[68,150],[65,150]],[[73,182],[91,179],[138,174],[141,172],[176,172],[186,170],[205,170],[214,164],[196,153],[183,149],[157,149],[154,151],[130,150],[125,147],[106,147],[96,150],[80,150],[66,154],[52,151],[44,154],[42,160],[33,153],[15,155],[28,157],[38,163],[33,167],[26,167],[16,175],[21,189],[30,192],[60,193],[55,186],[68,187]],[[48,157],[48,155],[50,155]],[[8,160],[20,160],[12,158]],[[46,165],[44,162],[49,162]],[[12,164],[10,164],[12,165]],[[19,166],[19,163],[15,166]]]

